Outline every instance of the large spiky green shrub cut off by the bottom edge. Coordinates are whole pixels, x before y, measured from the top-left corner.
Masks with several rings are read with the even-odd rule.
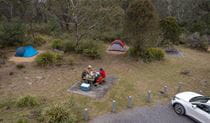
[[[76,116],[62,106],[52,106],[45,112],[48,123],[76,123]]]

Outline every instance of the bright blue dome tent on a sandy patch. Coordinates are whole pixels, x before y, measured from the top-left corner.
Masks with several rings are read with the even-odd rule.
[[[19,47],[16,50],[17,57],[33,57],[38,54],[38,51],[33,46]]]

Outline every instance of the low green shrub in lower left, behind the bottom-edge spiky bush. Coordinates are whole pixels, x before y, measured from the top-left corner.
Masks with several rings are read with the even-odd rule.
[[[34,107],[39,105],[38,99],[33,96],[20,97],[16,102],[18,107]]]

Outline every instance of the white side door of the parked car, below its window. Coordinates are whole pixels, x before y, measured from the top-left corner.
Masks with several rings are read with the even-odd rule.
[[[193,118],[200,121],[201,123],[209,123],[210,114],[204,111],[204,108],[205,108],[204,104],[192,104],[190,113]]]

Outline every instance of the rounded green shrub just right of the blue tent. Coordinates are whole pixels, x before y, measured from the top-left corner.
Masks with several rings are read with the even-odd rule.
[[[38,55],[35,59],[37,65],[45,67],[49,65],[58,64],[63,59],[63,56],[59,53],[46,52]]]

